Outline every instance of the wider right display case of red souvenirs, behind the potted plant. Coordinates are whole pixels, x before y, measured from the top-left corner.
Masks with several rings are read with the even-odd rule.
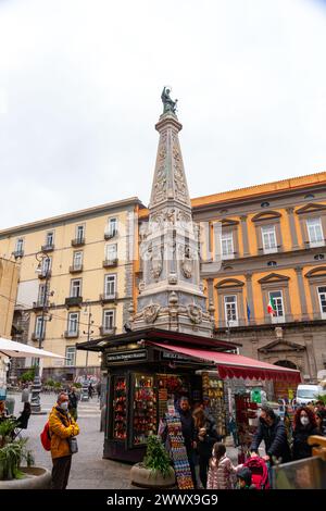
[[[156,389],[154,377],[133,375],[133,445],[145,445],[149,435],[158,429]]]

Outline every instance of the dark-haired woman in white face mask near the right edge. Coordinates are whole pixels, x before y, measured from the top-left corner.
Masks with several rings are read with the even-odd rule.
[[[312,456],[312,446],[309,446],[306,441],[311,435],[318,435],[315,414],[309,407],[300,407],[293,420],[293,460]]]

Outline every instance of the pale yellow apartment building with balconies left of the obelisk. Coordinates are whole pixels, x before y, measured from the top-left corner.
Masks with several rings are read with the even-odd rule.
[[[129,252],[139,208],[130,198],[0,232],[0,254],[20,264],[13,339],[65,357],[45,360],[43,379],[99,375],[98,356],[75,345],[123,332],[135,288]],[[17,373],[30,364],[23,360]]]

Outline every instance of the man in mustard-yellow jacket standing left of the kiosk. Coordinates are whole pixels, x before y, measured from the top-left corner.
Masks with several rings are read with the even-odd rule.
[[[49,416],[52,456],[52,489],[65,489],[72,465],[68,438],[79,434],[78,424],[68,413],[68,396],[61,392]]]

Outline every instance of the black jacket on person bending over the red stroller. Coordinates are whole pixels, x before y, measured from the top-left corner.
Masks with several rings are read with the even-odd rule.
[[[250,450],[258,452],[261,441],[265,441],[266,454],[281,458],[283,463],[291,460],[290,448],[287,439],[287,431],[279,416],[276,416],[272,426],[267,426],[262,420],[253,437]]]

